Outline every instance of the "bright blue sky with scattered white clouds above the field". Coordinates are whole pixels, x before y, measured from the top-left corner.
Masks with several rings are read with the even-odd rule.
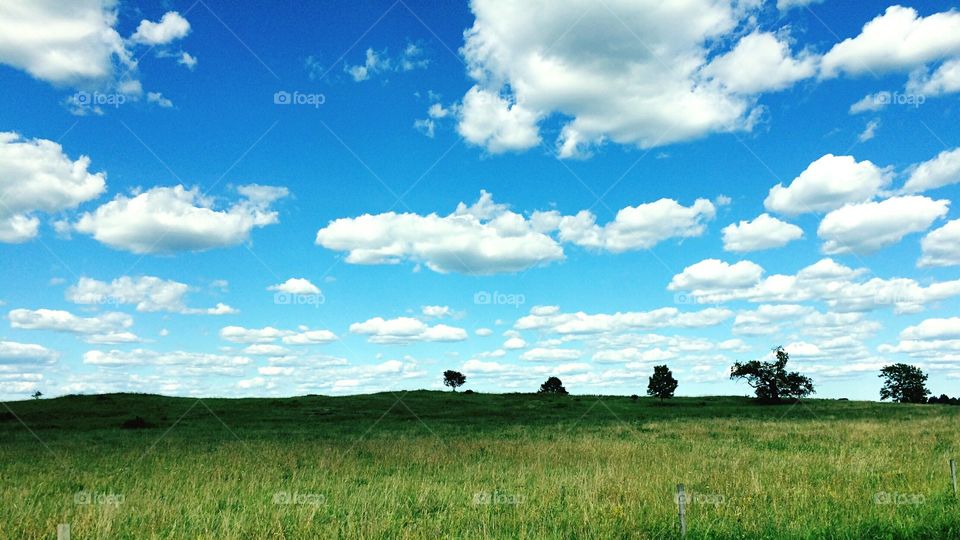
[[[0,397],[960,393],[943,2],[0,7]],[[779,187],[777,187],[779,186]]]

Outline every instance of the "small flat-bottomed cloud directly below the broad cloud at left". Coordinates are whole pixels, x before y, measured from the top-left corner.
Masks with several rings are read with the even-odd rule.
[[[212,308],[187,307],[184,297],[190,291],[185,283],[153,276],[121,276],[110,283],[81,277],[67,289],[67,300],[75,304],[137,306],[137,311],[168,311],[191,315],[227,315],[236,310],[225,304]]]

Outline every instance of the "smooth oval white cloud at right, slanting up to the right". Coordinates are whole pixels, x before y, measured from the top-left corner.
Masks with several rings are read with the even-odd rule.
[[[892,197],[880,202],[849,204],[823,218],[817,235],[827,254],[873,253],[904,236],[923,232],[947,214],[950,201],[928,197]]]

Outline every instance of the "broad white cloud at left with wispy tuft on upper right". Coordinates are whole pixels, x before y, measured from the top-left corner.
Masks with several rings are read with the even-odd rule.
[[[277,223],[270,206],[286,188],[240,186],[241,199],[225,210],[199,188],[155,187],[132,197],[117,195],[74,225],[116,249],[141,254],[204,251],[239,244],[256,227]]]

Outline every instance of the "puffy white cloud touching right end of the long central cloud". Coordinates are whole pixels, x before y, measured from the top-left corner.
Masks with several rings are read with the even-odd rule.
[[[583,210],[560,220],[560,239],[614,253],[649,249],[669,238],[700,236],[715,215],[716,208],[707,199],[697,199],[690,207],[660,199],[623,208],[613,221],[601,227],[592,212]]]

